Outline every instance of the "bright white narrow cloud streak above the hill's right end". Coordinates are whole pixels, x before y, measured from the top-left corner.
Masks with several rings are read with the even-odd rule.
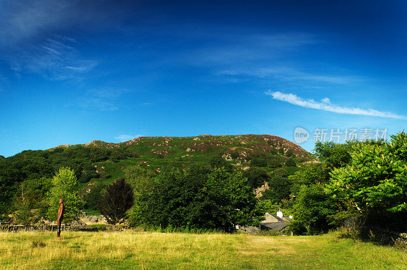
[[[407,116],[394,114],[391,112],[382,112],[374,109],[360,109],[360,108],[349,108],[341,107],[331,103],[331,100],[328,97],[325,97],[321,102],[316,102],[313,99],[305,99],[295,94],[285,94],[280,91],[268,91],[265,92],[267,95],[271,95],[274,99],[280,100],[283,102],[288,102],[297,106],[304,108],[311,108],[317,110],[323,110],[333,113],[340,114],[353,114],[353,115],[367,115],[367,116],[378,116],[378,117],[388,117],[406,120]]]

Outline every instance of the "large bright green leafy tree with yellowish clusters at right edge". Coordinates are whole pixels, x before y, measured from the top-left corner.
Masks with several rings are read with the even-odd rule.
[[[326,191],[352,201],[362,213],[407,212],[407,136],[391,136],[390,143],[358,142],[351,160],[336,168]]]

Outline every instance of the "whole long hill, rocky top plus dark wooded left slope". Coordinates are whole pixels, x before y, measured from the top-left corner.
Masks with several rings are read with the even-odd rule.
[[[227,163],[247,170],[256,158],[264,161],[270,173],[274,162],[284,165],[291,155],[297,164],[311,159],[298,145],[273,135],[197,137],[139,137],[123,143],[93,141],[61,145],[47,150],[25,150],[11,157],[0,157],[0,214],[10,209],[19,183],[46,195],[50,179],[61,166],[74,170],[84,188],[95,182],[111,183],[124,176],[124,168],[137,165],[155,173],[166,167],[186,170],[192,164],[209,166],[211,158],[222,156]],[[287,167],[293,174],[299,167]]]

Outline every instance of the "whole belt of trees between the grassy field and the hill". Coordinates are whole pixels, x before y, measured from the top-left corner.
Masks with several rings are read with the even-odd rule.
[[[80,197],[78,175],[60,168],[41,181],[26,178],[17,183],[15,216],[29,222],[35,215],[52,219],[57,200],[67,197],[67,215],[73,219],[86,207],[99,210],[112,224],[128,220],[132,226],[220,229],[258,225],[266,212],[282,209],[293,215],[289,227],[296,234],[317,234],[340,226],[350,217],[407,214],[407,136],[404,132],[385,141],[317,142],[313,150],[319,163],[271,167],[254,162],[242,171],[219,155],[208,166],[186,171],[168,166],[155,173],[127,166],[125,177],[110,185],[97,183]],[[265,159],[261,155],[251,156]],[[253,166],[258,165],[258,166]],[[293,173],[295,172],[295,173]],[[265,183],[269,189],[256,198],[253,190]],[[6,194],[7,195],[7,194]],[[4,201],[1,201],[4,207]]]

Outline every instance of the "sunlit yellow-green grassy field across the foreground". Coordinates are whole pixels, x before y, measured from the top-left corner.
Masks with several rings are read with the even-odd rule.
[[[40,247],[41,242],[45,247]],[[37,243],[37,245],[36,245]],[[5,269],[407,269],[407,252],[341,238],[158,232],[1,232]]]

